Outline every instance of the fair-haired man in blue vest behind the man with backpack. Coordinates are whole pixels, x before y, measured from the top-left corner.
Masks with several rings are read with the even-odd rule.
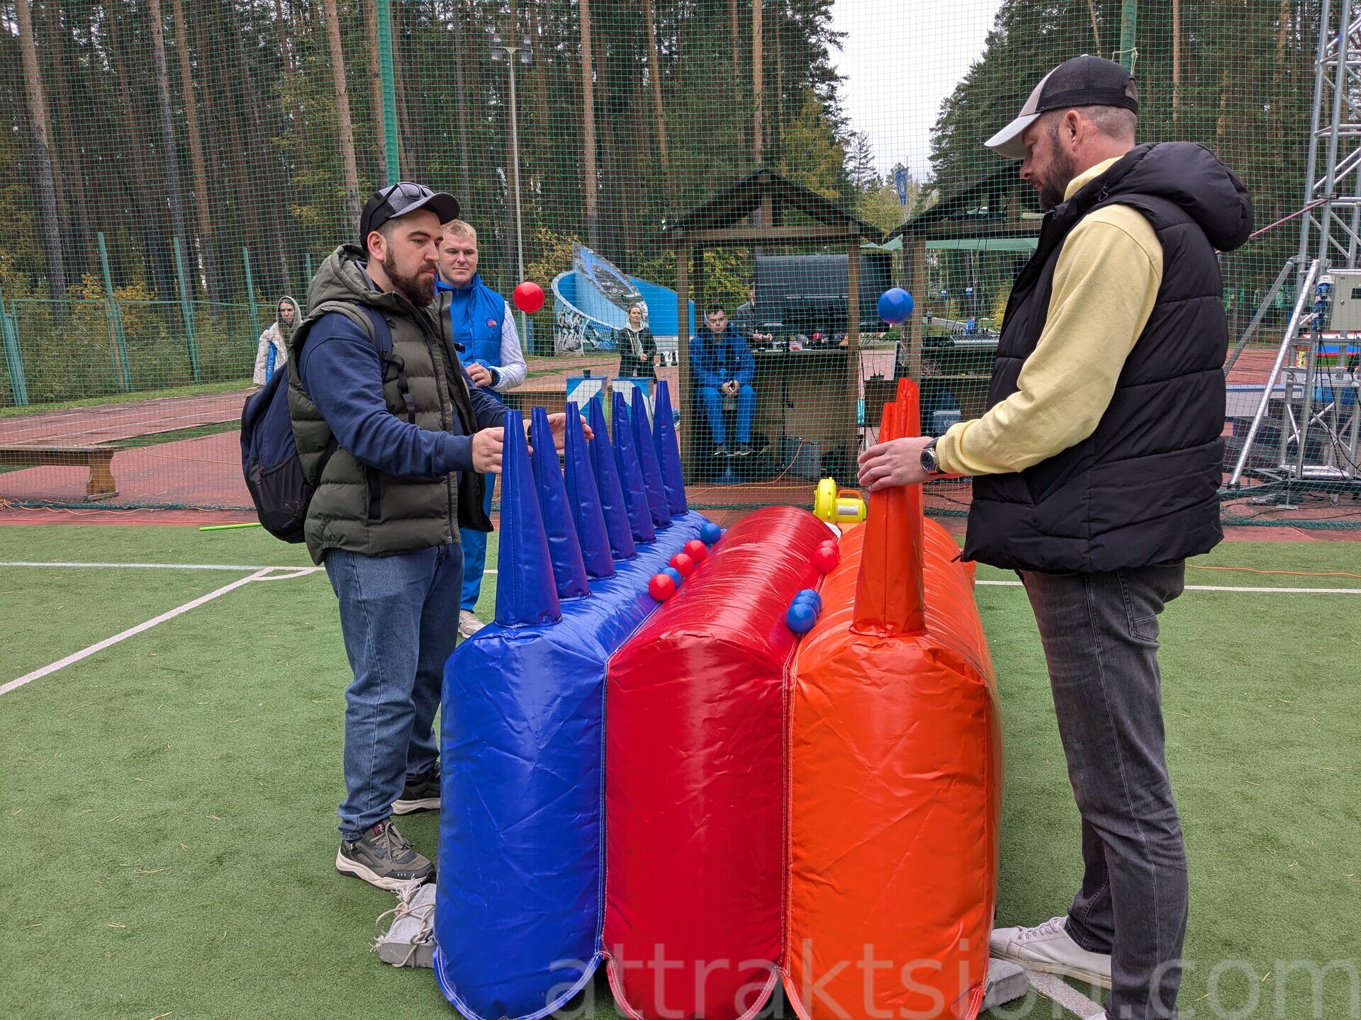
[[[440,238],[440,311],[449,317],[455,343],[463,344],[463,364],[478,390],[501,403],[501,394],[524,382],[527,366],[520,335],[506,299],[478,276],[478,231],[461,219],[444,224]],[[495,477],[487,476],[482,510],[491,513]],[[471,638],[482,628],[474,615],[482,594],[487,562],[487,533],[463,532],[463,601],[459,634]]]

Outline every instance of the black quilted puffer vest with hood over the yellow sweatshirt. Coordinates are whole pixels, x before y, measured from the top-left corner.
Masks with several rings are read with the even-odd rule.
[[[1064,239],[1112,204],[1138,209],[1162,245],[1153,314],[1090,437],[1025,471],[973,480],[968,559],[1097,573],[1209,552],[1224,537],[1228,325],[1215,248],[1241,245],[1252,212],[1243,185],[1207,150],[1139,146],[1045,216],[1011,290],[988,403],[1017,392],[1048,317]]]

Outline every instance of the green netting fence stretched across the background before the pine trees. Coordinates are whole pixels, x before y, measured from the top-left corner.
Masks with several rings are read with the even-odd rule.
[[[1296,324],[1286,352],[1288,370],[1317,371],[1273,371],[1297,306],[1319,310],[1316,280],[1298,292],[1316,252],[1290,260],[1315,215],[1301,209],[1316,60],[1337,11],[0,0],[0,500],[249,506],[233,428],[261,330],[283,295],[306,309],[317,267],[358,241],[367,194],[406,178],[457,196],[485,282],[547,294],[517,322],[528,378],[509,401],[627,386],[618,330],[640,302],[655,371],[680,389],[694,500],[807,503],[818,477],[853,481],[897,378],[921,384],[927,431],[985,408],[1040,209],[983,140],[1051,67],[1100,53],[1134,68],[1139,140],[1214,150],[1267,228],[1222,258],[1230,343],[1248,335],[1228,373],[1225,518],[1354,526],[1341,301],[1354,239],[1326,267],[1342,273],[1337,301]],[[1356,87],[1343,91],[1346,106]],[[1361,190],[1349,146],[1334,194]],[[900,326],[875,311],[890,286],[916,298]],[[682,358],[715,305],[755,363],[750,430],[736,400],[720,408],[727,457]],[[116,447],[116,495],[91,490],[90,446]],[[930,487],[938,513],[968,502],[968,483]]]

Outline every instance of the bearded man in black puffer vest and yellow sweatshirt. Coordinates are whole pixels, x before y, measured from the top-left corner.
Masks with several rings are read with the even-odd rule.
[[[1164,755],[1158,615],[1222,537],[1228,326],[1215,249],[1252,230],[1243,185],[1190,143],[1135,146],[1128,72],[1077,57],[988,140],[1047,211],[998,343],[989,411],[860,457],[870,490],[974,476],[964,555],[1021,575],[1040,627],[1082,888],[998,929],[994,956],[1111,989],[1119,1020],[1175,1017],[1187,865]],[[1119,918],[1119,928],[1116,926]]]

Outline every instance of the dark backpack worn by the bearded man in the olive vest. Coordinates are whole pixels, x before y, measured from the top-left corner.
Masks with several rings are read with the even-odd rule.
[[[363,314],[358,314],[355,309],[362,309]],[[406,364],[392,351],[392,326],[382,313],[367,305],[342,302],[327,302],[316,309],[316,313],[327,311],[338,311],[363,328],[378,348],[384,378],[389,366],[396,367],[407,418],[414,422],[415,401],[407,386]],[[309,321],[320,318],[316,313]],[[301,354],[301,347],[298,351]],[[246,397],[241,411],[241,469],[264,529],[283,541],[301,543],[305,540],[302,525],[308,520],[308,506],[338,443],[331,437],[316,477],[309,479],[302,469],[298,442],[293,435],[293,418],[289,415],[289,379],[293,370],[291,362],[280,364],[264,389]]]

